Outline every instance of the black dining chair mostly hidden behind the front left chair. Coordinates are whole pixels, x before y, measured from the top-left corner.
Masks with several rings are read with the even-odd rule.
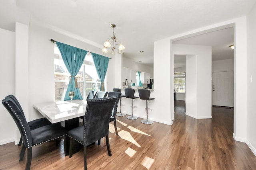
[[[12,100],[15,102],[15,104],[19,107],[21,113],[24,115],[24,111],[23,111],[22,107],[20,106],[20,103],[18,102],[17,98],[14,95],[12,95],[12,94],[10,94],[10,95],[8,95],[6,97],[12,98]],[[38,128],[38,127],[42,127],[42,126],[50,125],[50,124],[52,124],[52,123],[50,121],[48,121],[48,119],[46,119],[45,117],[39,118],[39,119],[35,119],[35,120],[32,120],[32,121],[28,122],[30,130],[34,130],[34,129]],[[20,146],[21,144],[22,144],[22,137],[20,137],[20,142],[18,143],[18,146]],[[22,153],[22,152],[25,152],[25,148],[23,147],[23,145],[22,145],[22,149],[21,149],[21,152],[20,152],[20,156],[22,154],[24,155],[24,153]]]

